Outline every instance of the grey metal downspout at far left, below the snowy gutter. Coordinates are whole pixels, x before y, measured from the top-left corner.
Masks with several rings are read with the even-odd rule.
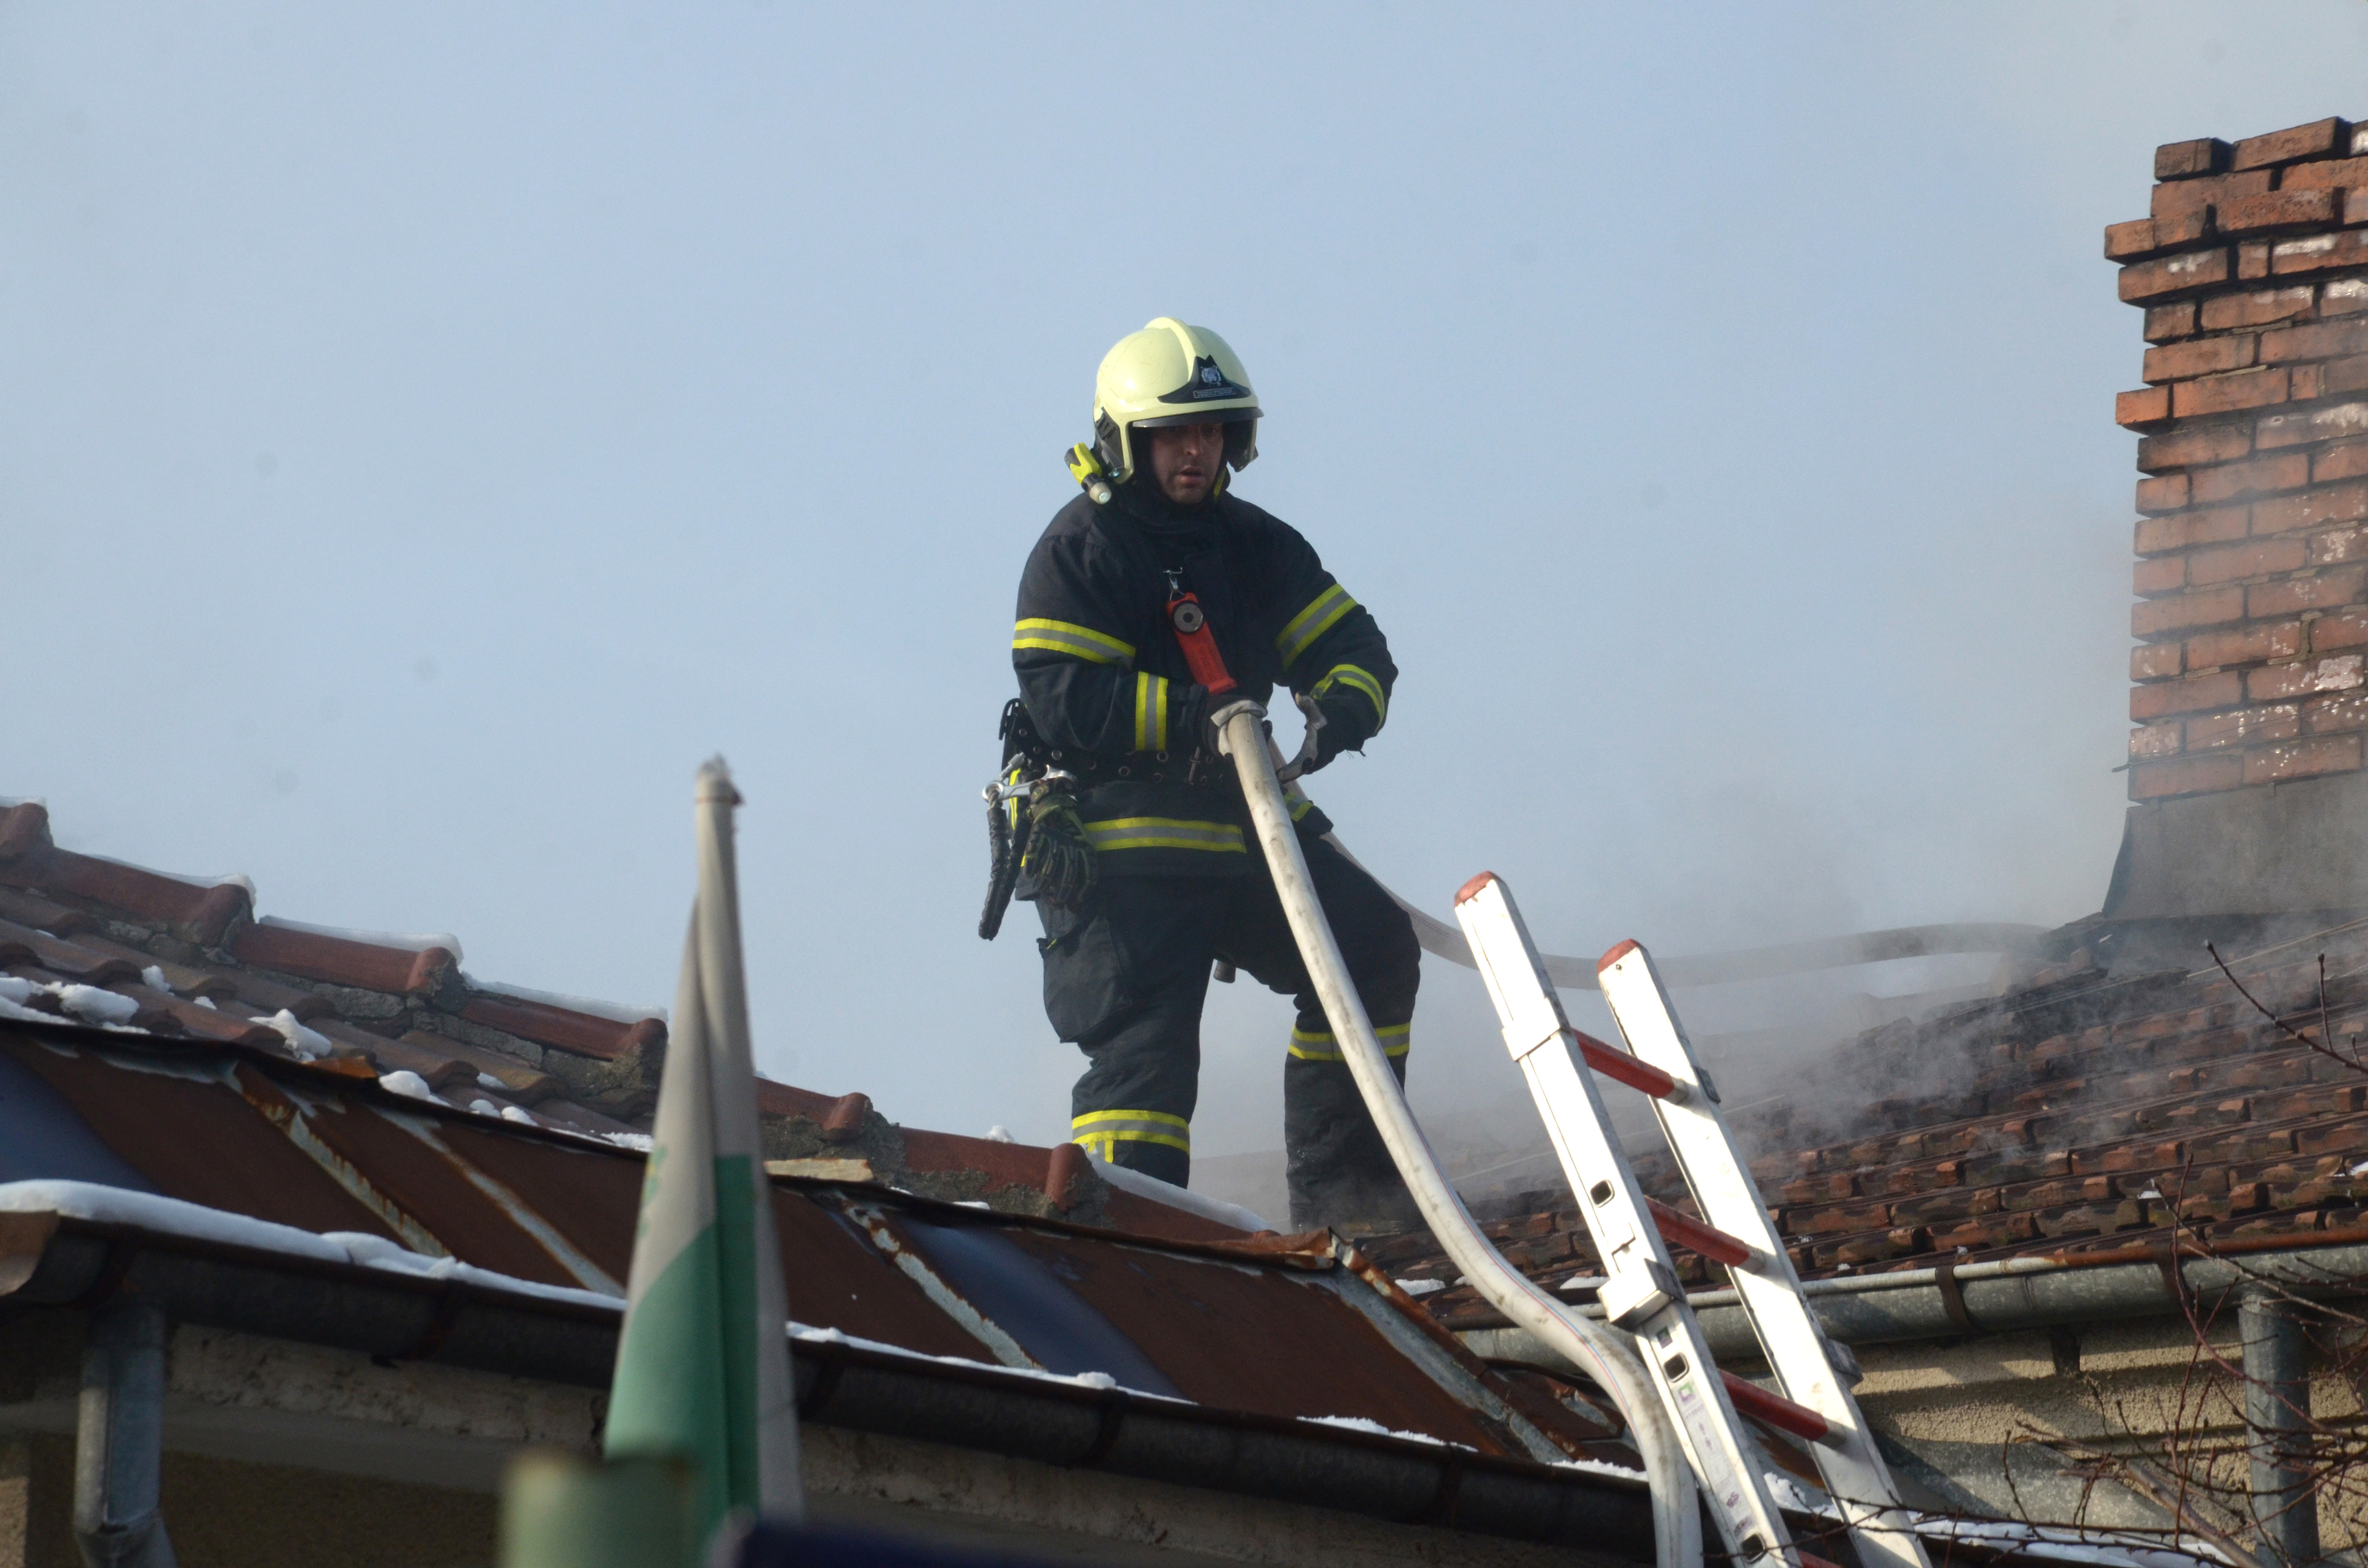
[[[163,1305],[116,1296],[90,1315],[73,1431],[73,1542],[90,1568],[175,1568],[163,1490]]]

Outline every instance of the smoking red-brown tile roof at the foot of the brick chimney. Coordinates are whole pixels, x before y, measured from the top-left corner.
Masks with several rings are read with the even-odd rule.
[[[2264,1002],[2318,1033],[2318,952],[2337,1042],[2368,1028],[2368,924],[2238,964]],[[2340,1045],[2340,1049],[2344,1049]],[[1930,1082],[1866,1104],[1864,1082]],[[1819,1116],[1840,1106],[1847,1132]],[[1790,1104],[1733,1118],[1757,1146],[1762,1196],[1804,1277],[1930,1267],[2013,1253],[2089,1253],[2202,1236],[2314,1236],[2368,1215],[2368,1066],[2264,1018],[2216,971],[2060,973],[1920,1023],[1871,1030]],[[1691,1213],[1667,1156],[1636,1158],[1658,1196]],[[1487,1229],[1532,1277],[1594,1274],[1561,1189],[1480,1199]],[[1402,1277],[1452,1279],[1428,1234],[1369,1246]],[[1695,1284],[1719,1274],[1679,1253]],[[1442,1322],[1494,1312],[1466,1289],[1423,1298]]]

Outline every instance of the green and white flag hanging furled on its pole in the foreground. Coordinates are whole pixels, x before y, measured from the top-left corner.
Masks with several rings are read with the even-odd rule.
[[[789,1310],[748,1047],[732,808],[722,758],[699,770],[699,902],[658,1078],[609,1457],[699,1466],[701,1537],[734,1509],[800,1514]]]

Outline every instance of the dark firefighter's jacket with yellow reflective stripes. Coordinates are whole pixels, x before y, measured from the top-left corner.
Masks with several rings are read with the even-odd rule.
[[[1127,486],[1111,505],[1080,495],[1054,514],[1021,573],[1011,663],[1037,732],[1085,782],[1082,817],[1103,876],[1229,876],[1262,867],[1231,763],[1205,758],[1186,782],[1208,711],[1167,623],[1175,587],[1198,595],[1217,651],[1246,696],[1274,687],[1333,696],[1364,722],[1390,715],[1397,666],[1371,611],[1347,597],[1314,547],[1260,507],[1217,495],[1175,507]],[[1333,722],[1340,722],[1338,718]],[[1300,831],[1321,834],[1291,786]]]

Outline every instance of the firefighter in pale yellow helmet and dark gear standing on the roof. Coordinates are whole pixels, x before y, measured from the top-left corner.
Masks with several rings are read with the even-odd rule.
[[[1208,718],[1274,687],[1321,715],[1310,772],[1362,751],[1390,715],[1397,666],[1357,599],[1288,523],[1231,493],[1257,457],[1257,393],[1215,332],[1160,317],[1118,341],[1094,381],[1085,488],[1021,573],[1011,663],[1054,772],[1028,801],[1018,895],[1044,921],[1044,1011],[1087,1059],[1070,1135],[1184,1187],[1212,962],[1298,1004],[1283,1056],[1291,1222],[1383,1229],[1411,1199],[1350,1078],[1283,919],[1231,763]],[[1189,651],[1193,632],[1215,647]],[[1058,775],[1075,784],[1061,789]],[[1288,789],[1350,978],[1404,1082],[1418,947],[1390,895]]]

